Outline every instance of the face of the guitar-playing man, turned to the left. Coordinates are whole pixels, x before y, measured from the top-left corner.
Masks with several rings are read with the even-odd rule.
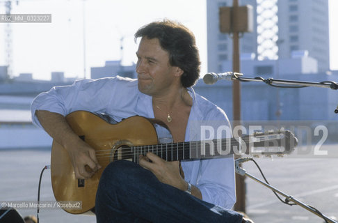
[[[152,96],[168,93],[182,70],[170,66],[169,53],[161,48],[159,39],[143,37],[136,55],[138,90]]]

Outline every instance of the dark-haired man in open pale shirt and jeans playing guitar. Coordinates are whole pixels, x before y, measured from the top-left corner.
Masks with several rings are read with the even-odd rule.
[[[190,30],[164,20],[143,26],[135,38],[140,38],[138,79],[83,79],[41,93],[32,104],[34,123],[65,148],[77,178],[91,178],[102,166],[65,120],[71,112],[104,113],[116,121],[156,118],[166,123],[174,142],[201,140],[206,123],[230,126],[222,109],[191,88],[200,59]],[[231,155],[167,162],[150,152],[139,156],[139,164],[118,160],[105,167],[95,214],[97,222],[247,222],[230,210],[235,201]]]

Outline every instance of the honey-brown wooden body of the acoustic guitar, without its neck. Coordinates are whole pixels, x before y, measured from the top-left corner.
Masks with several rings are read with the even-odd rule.
[[[53,141],[51,185],[56,201],[81,201],[81,209],[64,208],[65,211],[72,214],[90,214],[95,207],[95,196],[102,171],[110,162],[120,159],[119,149],[125,146],[158,144],[158,135],[154,123],[142,116],[132,116],[120,123],[111,124],[95,114],[79,111],[67,115],[66,120],[72,130],[95,149],[102,169],[92,178],[78,180],[67,151]]]

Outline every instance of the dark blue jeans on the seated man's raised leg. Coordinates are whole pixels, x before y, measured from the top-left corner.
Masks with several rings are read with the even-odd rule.
[[[103,222],[241,222],[232,210],[170,185],[134,162],[111,162],[102,174],[95,214]]]

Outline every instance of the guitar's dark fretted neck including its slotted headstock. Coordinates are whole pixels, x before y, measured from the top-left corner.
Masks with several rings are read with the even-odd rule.
[[[139,155],[149,152],[166,161],[211,159],[244,153],[276,155],[291,153],[296,145],[297,139],[291,132],[257,133],[237,138],[131,146],[118,151],[114,160],[124,159],[138,163]]]

